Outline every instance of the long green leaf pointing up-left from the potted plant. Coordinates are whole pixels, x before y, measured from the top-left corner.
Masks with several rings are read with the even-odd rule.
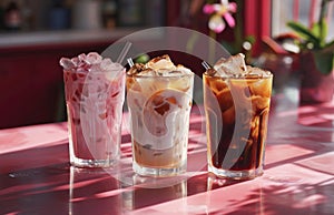
[[[307,27],[294,21],[287,22],[287,27],[294,30],[302,39],[306,40],[307,43],[312,42],[316,48],[320,47],[320,39]]]

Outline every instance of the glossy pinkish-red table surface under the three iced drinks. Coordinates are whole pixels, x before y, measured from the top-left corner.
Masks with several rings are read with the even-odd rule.
[[[206,172],[198,111],[187,173],[160,180],[132,173],[127,123],[121,161],[105,170],[70,167],[66,123],[1,130],[0,214],[334,214],[334,104],[272,105],[265,174],[242,182]]]

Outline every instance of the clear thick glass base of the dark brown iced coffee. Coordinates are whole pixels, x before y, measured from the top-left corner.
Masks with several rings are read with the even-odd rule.
[[[230,180],[253,180],[263,175],[263,166],[248,171],[229,171],[223,168],[216,168],[208,165],[208,172],[214,173],[217,177],[225,177]]]

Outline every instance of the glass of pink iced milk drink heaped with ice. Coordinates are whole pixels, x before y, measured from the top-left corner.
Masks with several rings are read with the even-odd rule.
[[[62,58],[70,163],[108,167],[120,156],[125,68],[91,52]]]

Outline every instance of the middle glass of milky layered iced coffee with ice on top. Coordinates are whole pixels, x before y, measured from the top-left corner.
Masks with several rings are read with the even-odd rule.
[[[139,175],[171,176],[187,168],[194,73],[168,55],[127,72],[132,167]]]

